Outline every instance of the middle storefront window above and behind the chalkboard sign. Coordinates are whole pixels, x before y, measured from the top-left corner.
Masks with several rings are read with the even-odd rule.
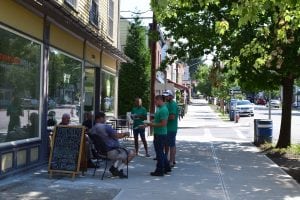
[[[50,49],[48,126],[59,124],[63,114],[71,123],[81,121],[82,62],[54,48]]]

